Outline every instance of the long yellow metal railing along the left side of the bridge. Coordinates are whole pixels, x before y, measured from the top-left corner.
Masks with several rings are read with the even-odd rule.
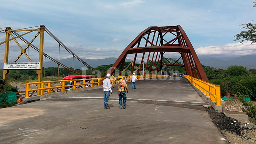
[[[137,79],[147,79],[147,78],[156,78],[156,77],[165,77],[167,75],[135,75]],[[131,75],[129,76],[122,76],[122,79],[125,81],[130,81]],[[25,91],[25,97],[29,98],[31,94],[34,94],[37,92],[39,95],[44,95],[45,92],[47,94],[51,94],[53,92],[65,91],[65,87],[72,87],[73,90],[76,89],[85,89],[86,87],[95,87],[100,86],[103,80],[106,78],[91,78],[91,79],[75,79],[75,80],[56,80],[56,81],[41,81],[41,82],[27,82],[26,83],[26,91]],[[89,82],[86,82],[86,80],[90,80]],[[114,83],[118,80],[118,77],[115,77]],[[74,81],[73,84],[71,81]],[[77,84],[77,81],[80,81],[82,83]],[[65,85],[65,82],[70,82],[70,85]],[[52,86],[52,84],[58,84],[60,86]],[[37,89],[30,89],[31,85],[39,85],[40,88]],[[46,91],[47,90],[47,91]]]

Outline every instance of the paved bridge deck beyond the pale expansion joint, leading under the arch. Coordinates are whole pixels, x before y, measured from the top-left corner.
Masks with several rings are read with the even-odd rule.
[[[132,90],[131,82],[127,83],[128,94],[127,100],[139,99],[139,100],[155,100],[155,101],[177,101],[183,103],[201,103],[202,105],[208,105],[206,101],[200,97],[193,89],[191,84],[185,79],[176,77],[173,78],[160,78],[160,79],[146,79],[136,82],[137,89]],[[110,98],[118,98],[118,86],[112,89],[113,95]],[[66,94],[58,96],[58,99],[64,98],[88,98],[98,97],[104,98],[102,89],[95,89],[86,92],[77,92],[75,94]],[[62,97],[62,98],[61,98]],[[55,98],[55,97],[53,97]]]

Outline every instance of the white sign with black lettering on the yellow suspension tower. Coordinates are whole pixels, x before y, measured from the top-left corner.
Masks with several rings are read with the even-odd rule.
[[[40,63],[4,63],[4,69],[40,69]]]

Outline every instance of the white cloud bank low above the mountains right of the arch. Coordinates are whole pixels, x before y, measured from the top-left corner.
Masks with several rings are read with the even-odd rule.
[[[249,55],[256,54],[256,44],[251,42],[228,43],[224,46],[207,46],[195,49],[198,55]]]

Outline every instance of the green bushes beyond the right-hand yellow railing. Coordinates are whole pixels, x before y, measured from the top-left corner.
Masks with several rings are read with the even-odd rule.
[[[210,83],[220,85],[222,94],[230,92],[238,96],[245,106],[243,111],[256,121],[256,105],[254,102],[244,100],[246,97],[256,99],[256,69],[247,71],[242,66],[232,65],[228,67],[228,70],[217,70],[209,66],[204,66],[204,70]]]

